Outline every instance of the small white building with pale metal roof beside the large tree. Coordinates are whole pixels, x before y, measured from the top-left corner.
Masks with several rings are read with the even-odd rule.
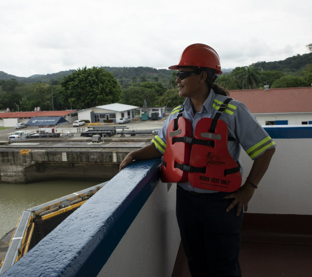
[[[137,106],[113,103],[81,110],[77,113],[79,120],[89,120],[91,123],[104,122],[104,120],[110,119],[112,122],[118,122],[122,117],[134,119],[134,112],[137,108]]]

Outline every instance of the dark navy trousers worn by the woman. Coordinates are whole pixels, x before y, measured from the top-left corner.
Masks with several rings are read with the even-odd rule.
[[[241,276],[243,211],[236,216],[236,205],[226,212],[233,201],[222,198],[227,194],[191,194],[177,186],[177,220],[192,277]]]

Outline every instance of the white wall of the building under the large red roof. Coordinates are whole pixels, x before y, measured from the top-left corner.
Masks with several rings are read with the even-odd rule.
[[[261,125],[266,125],[266,121],[288,120],[288,125],[301,125],[302,121],[312,121],[311,113],[280,113],[280,114],[254,114]]]

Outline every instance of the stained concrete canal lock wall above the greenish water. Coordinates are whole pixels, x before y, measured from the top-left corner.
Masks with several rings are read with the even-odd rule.
[[[111,179],[131,150],[2,149],[0,182],[27,184],[46,180]]]

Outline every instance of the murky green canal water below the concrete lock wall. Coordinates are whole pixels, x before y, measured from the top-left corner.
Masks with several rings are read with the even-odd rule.
[[[24,210],[100,183],[69,180],[31,184],[0,183],[0,238],[16,226]]]

